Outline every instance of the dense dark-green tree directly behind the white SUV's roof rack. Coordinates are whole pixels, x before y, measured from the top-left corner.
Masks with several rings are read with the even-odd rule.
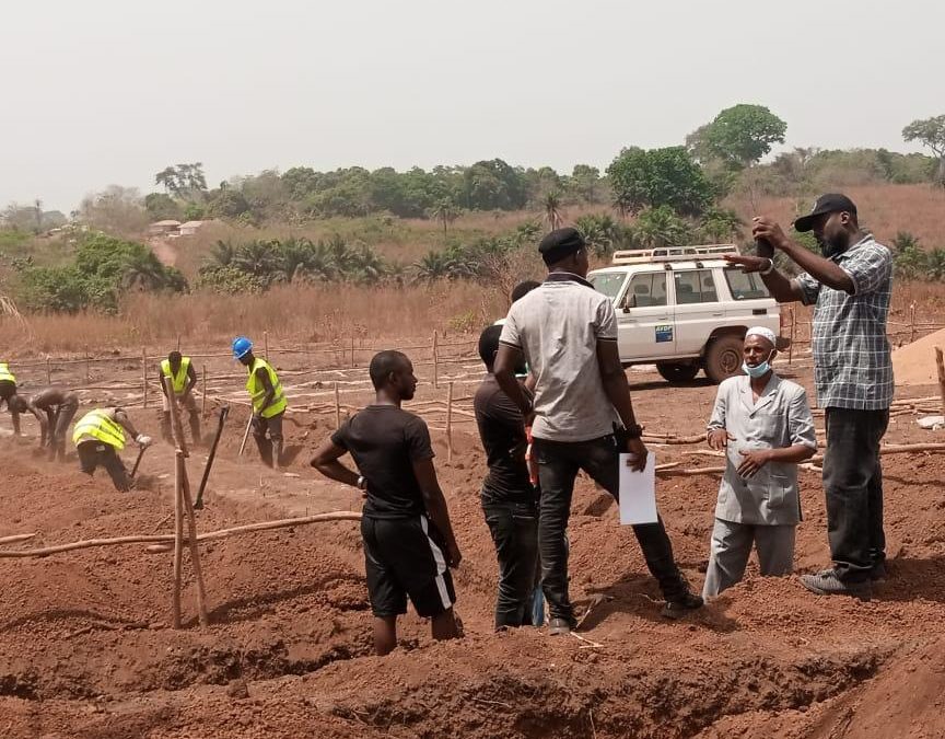
[[[607,168],[607,174],[615,205],[623,212],[666,206],[686,216],[698,216],[713,200],[711,184],[685,147],[623,149]]]

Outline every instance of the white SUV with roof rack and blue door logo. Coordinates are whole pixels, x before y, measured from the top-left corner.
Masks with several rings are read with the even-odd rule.
[[[614,266],[587,279],[614,301],[625,367],[655,363],[669,382],[688,382],[700,369],[715,383],[742,371],[742,343],[750,326],[780,338],[781,310],[757,274],[721,255],[734,245],[615,252]]]

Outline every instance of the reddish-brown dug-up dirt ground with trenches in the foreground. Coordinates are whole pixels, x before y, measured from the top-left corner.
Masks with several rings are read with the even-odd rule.
[[[800,379],[809,386],[807,371]],[[631,381],[650,430],[703,428],[711,385],[669,389],[637,371]],[[153,412],[136,414],[156,430]],[[306,466],[334,417],[287,426],[298,475],[289,477],[262,470],[255,452],[236,459],[245,419],[245,409],[234,408],[200,530],[358,508],[354,490]],[[202,545],[209,628],[196,623],[186,556],[183,631],[168,627],[170,554],[129,545],[0,558],[0,736],[945,736],[945,457],[884,458],[891,577],[872,601],[816,598],[796,578],[762,579],[752,568],[677,623],[660,619],[655,584],[616,507],[582,480],[570,529],[572,597],[585,609],[604,596],[582,632],[588,643],[530,628],[492,633],[495,563],[477,499],[483,455],[471,431],[465,425],[454,435],[452,463],[434,435],[465,555],[456,571],[462,639],[433,643],[427,625],[408,615],[402,647],[386,658],[370,655],[353,522]],[[887,437],[919,440],[943,435],[900,416]],[[0,443],[0,535],[39,535],[5,549],[171,530],[162,523],[172,505],[166,444],[144,457],[143,489],[121,495],[106,477],[90,482],[74,460],[48,465],[23,443]],[[719,463],[684,453],[693,449],[655,451],[687,466]],[[191,478],[199,480],[203,459],[195,452]],[[716,486],[714,476],[658,486],[693,587],[702,581]],[[800,571],[828,561],[817,473],[804,472],[803,487]]]

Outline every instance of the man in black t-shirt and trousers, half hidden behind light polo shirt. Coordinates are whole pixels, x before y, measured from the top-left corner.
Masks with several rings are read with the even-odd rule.
[[[525,462],[525,422],[492,374],[501,333],[502,326],[492,325],[479,337],[479,356],[488,374],[472,401],[489,465],[482,482],[482,512],[499,559],[497,631],[533,623],[538,566],[538,496]]]

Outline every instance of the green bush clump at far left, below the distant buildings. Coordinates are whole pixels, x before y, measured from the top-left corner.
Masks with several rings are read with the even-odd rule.
[[[71,264],[26,266],[20,301],[35,311],[75,312],[91,308],[114,312],[127,290],[186,289],[184,276],[161,264],[143,244],[95,233],[82,241]]]

